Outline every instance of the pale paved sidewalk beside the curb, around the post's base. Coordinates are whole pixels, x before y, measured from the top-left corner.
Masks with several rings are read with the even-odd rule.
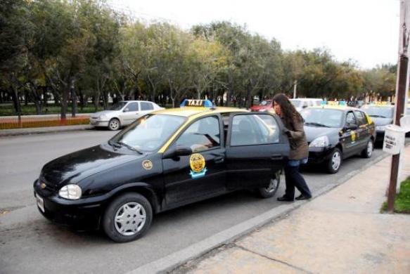
[[[405,148],[401,180],[410,176]],[[172,273],[410,273],[410,216],[380,214],[391,157]]]

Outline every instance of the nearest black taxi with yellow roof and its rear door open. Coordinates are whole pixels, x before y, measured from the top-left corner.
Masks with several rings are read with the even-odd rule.
[[[129,242],[160,211],[241,189],[273,196],[289,150],[274,114],[185,100],[45,164],[34,196],[56,223],[102,228],[112,240]]]

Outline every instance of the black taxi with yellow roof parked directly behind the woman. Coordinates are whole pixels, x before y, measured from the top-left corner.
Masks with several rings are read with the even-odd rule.
[[[361,154],[369,158],[376,140],[375,125],[363,110],[345,102],[328,102],[301,112],[309,143],[308,164],[323,164],[328,173],[339,171],[342,160]]]

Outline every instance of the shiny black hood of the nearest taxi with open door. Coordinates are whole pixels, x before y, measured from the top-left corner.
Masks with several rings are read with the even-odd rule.
[[[143,155],[125,155],[113,152],[108,148],[105,149],[105,146],[108,145],[96,145],[53,159],[44,165],[40,179],[51,187],[65,183],[78,183],[93,174],[143,157]]]

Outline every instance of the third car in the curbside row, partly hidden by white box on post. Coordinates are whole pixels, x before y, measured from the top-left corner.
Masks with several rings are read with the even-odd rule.
[[[363,105],[361,110],[371,117],[376,126],[376,143],[383,143],[385,127],[388,124],[393,124],[395,106],[390,105],[390,103],[380,102],[378,104]]]

